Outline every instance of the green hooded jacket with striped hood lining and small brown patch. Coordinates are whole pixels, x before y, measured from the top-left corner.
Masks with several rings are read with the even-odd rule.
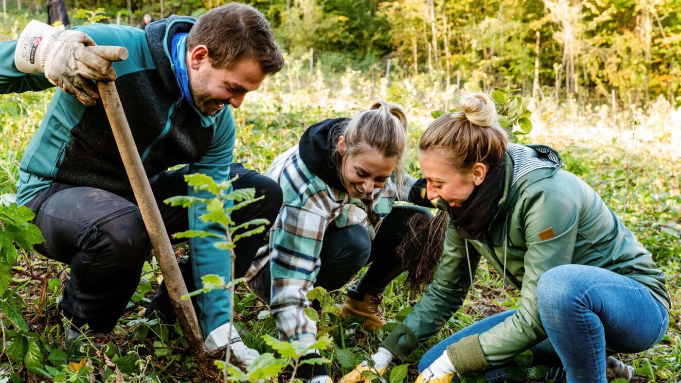
[[[447,227],[437,276],[422,299],[381,347],[406,359],[461,307],[483,256],[520,290],[510,318],[447,348],[465,375],[508,361],[546,339],[537,307],[537,282],[552,267],[602,267],[643,284],[669,310],[665,275],[652,255],[584,181],[561,170],[548,146],[510,144],[498,213],[484,239],[469,241]]]

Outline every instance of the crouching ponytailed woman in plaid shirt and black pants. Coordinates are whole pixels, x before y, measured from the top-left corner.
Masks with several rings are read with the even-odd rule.
[[[303,312],[311,305],[308,291],[341,288],[368,263],[358,286],[348,288],[340,314],[364,317],[370,331],[385,323],[381,293],[413,255],[396,255],[410,232],[407,222],[417,215],[432,218],[424,207],[394,205],[399,199],[432,207],[422,193],[424,180],[402,173],[406,141],[402,107],[379,101],[353,118],[313,124],[266,172],[281,186],[283,206],[269,246],[246,278],[270,301],[283,339],[315,342],[317,324]],[[323,366],[313,371],[302,365],[297,375],[311,382],[328,379]]]

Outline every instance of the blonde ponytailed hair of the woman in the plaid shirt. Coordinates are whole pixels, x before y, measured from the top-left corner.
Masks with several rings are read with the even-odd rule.
[[[347,159],[367,150],[377,150],[386,158],[396,159],[395,184],[402,184],[402,157],[407,146],[407,114],[404,108],[396,103],[376,101],[369,110],[355,114],[343,129],[345,150],[341,154],[338,147],[336,154],[340,159],[338,172],[343,179],[343,171]],[[336,142],[338,139],[336,137]]]

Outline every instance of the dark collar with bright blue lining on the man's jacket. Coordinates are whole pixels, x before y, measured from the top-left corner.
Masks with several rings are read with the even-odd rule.
[[[175,73],[170,64],[170,42],[175,33],[189,33],[196,19],[189,16],[172,15],[163,20],[152,22],[146,26],[146,42],[156,70],[163,78],[165,90],[180,97],[180,87],[175,80]],[[172,81],[171,81],[172,80]]]

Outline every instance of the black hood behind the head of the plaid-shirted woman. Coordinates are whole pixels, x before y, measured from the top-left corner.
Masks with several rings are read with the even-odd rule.
[[[300,137],[298,152],[305,166],[323,182],[340,191],[347,191],[340,180],[333,153],[338,135],[343,133],[349,118],[328,118],[309,127]]]

